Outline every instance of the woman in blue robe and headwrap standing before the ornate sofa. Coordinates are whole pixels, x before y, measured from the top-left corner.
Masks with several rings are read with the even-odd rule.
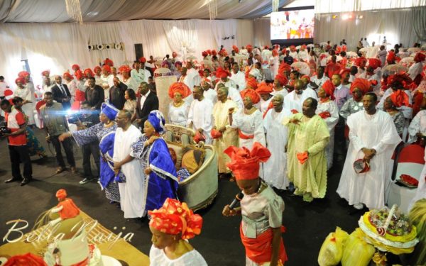
[[[178,178],[165,140],[163,113],[151,111],[143,125],[143,135],[133,143],[131,156],[142,160],[145,176],[146,211],[159,209],[165,199],[177,199]]]

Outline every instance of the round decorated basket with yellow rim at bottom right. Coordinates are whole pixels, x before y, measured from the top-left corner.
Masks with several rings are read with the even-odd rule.
[[[368,211],[358,223],[368,237],[366,240],[382,251],[411,253],[418,242],[415,226],[396,205],[392,209]]]

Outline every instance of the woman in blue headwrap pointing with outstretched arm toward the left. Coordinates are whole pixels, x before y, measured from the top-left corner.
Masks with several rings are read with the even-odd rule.
[[[101,113],[98,123],[90,128],[73,133],[63,133],[59,140],[65,138],[74,138],[78,145],[91,143],[94,140],[99,140],[99,150],[101,152],[101,169],[99,176],[99,184],[101,189],[105,190],[107,199],[112,202],[120,202],[119,184],[114,181],[114,163],[112,160],[114,153],[114,136],[117,125],[114,121],[119,112],[111,104],[102,104]]]

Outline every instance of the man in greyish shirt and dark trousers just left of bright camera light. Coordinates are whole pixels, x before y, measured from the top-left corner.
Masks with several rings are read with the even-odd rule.
[[[59,165],[56,173],[59,174],[65,171],[65,162],[62,157],[58,136],[69,131],[68,123],[62,104],[53,102],[52,92],[45,92],[44,100],[46,104],[40,108],[40,117],[45,123],[46,141],[52,143],[55,147],[56,160]],[[75,174],[77,169],[75,168],[74,154],[72,153],[72,140],[63,141],[62,147],[65,150],[65,155],[67,155],[67,162],[70,164],[71,172]]]

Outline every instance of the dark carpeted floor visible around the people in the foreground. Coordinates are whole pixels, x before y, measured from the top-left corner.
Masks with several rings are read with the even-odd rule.
[[[35,133],[47,148],[44,132],[35,129]],[[65,188],[77,206],[109,230],[114,233],[123,232],[123,235],[134,233],[131,244],[143,253],[149,254],[151,233],[148,222],[124,219],[121,210],[114,204],[109,204],[104,192],[100,191],[99,184],[91,182],[81,185],[78,182],[82,177],[70,172],[55,174],[55,157],[49,150],[47,159],[33,157],[33,182],[24,187],[20,187],[18,183],[5,184],[3,181],[11,177],[6,140],[0,140],[0,147],[1,239],[10,228],[6,226],[6,222],[17,218],[29,222],[29,227],[23,229],[23,232],[27,233],[41,212],[57,204],[55,192]],[[77,169],[82,172],[82,154],[78,148],[75,148],[75,151],[77,151],[75,154]],[[340,226],[351,233],[357,227],[360,214],[349,215],[346,201],[336,194],[342,165],[343,162],[334,162],[324,199],[316,199],[307,204],[300,197],[281,195],[285,201],[283,223],[287,228],[283,238],[289,257],[285,265],[317,265],[318,252],[330,231]],[[209,265],[244,265],[244,248],[239,238],[241,217],[222,216],[224,205],[229,204],[237,192],[238,188],[234,182],[221,180],[219,193],[213,204],[208,209],[199,211],[204,218],[202,233],[190,242]],[[9,239],[16,237],[18,234],[14,233]]]

